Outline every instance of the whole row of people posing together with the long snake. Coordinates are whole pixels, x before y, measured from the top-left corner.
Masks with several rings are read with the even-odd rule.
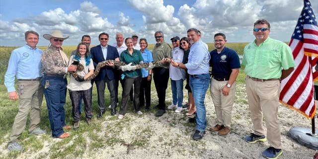
[[[270,24],[262,19],[253,25],[255,40],[244,48],[242,65],[247,75],[246,93],[253,123],[253,133],[244,140],[248,143],[266,141],[270,148],[262,152],[268,159],[276,159],[282,154],[280,127],[277,117],[280,81],[292,73],[295,67],[291,49],[283,42],[269,38]],[[70,60],[63,52],[63,37],[61,31],[44,34],[50,41],[50,46],[42,53],[36,48],[38,33],[25,32],[26,45],[15,49],[11,53],[5,82],[12,100],[20,99],[19,112],[15,117],[12,134],[8,145],[10,151],[20,151],[18,137],[26,125],[29,107],[31,106],[29,134],[43,135],[45,130],[39,128],[40,105],[43,93],[46,98],[52,136],[67,138],[70,134],[64,129],[71,129],[65,124],[64,104],[66,92],[69,89],[73,106],[74,128],[79,128],[81,100],[84,101],[86,122],[91,124],[92,118],[92,84],[95,81],[97,88],[97,105],[101,118],[105,113],[105,86],[110,92],[111,115],[116,115],[119,81],[122,85],[122,100],[118,119],[127,113],[127,103],[130,98],[134,103],[134,110],[142,115],[141,107],[150,110],[150,89],[152,75],[158,95],[158,109],[155,116],[165,113],[165,95],[168,80],[171,81],[172,103],[167,108],[175,108],[176,113],[182,111],[183,82],[188,91],[188,112],[194,115],[196,131],[192,138],[201,140],[207,127],[205,94],[210,86],[210,93],[215,106],[217,123],[209,130],[218,135],[226,136],[231,132],[232,108],[235,99],[236,79],[239,74],[240,62],[238,54],[226,47],[227,39],[223,33],[214,35],[216,49],[209,53],[206,43],[200,40],[201,32],[195,28],[187,30],[187,37],[172,37],[172,48],[164,41],[161,31],[155,32],[156,44],[151,52],[147,39],[138,36],[124,38],[123,33],[116,34],[116,43],[108,45],[109,35],[101,33],[98,36],[100,45],[89,49],[90,36],[84,35],[77,49],[72,52]],[[90,80],[99,62],[109,61],[102,65],[98,75]],[[152,62],[161,63],[153,65]],[[127,65],[117,66],[116,62]],[[149,67],[137,69],[136,65],[149,63]],[[83,66],[79,70],[79,64]],[[210,74],[210,67],[212,68]],[[70,76],[67,83],[67,73],[77,73],[77,77]],[[14,88],[14,79],[18,79],[17,92]],[[145,105],[146,104],[146,105]],[[262,128],[262,114],[267,127],[267,139]]]

